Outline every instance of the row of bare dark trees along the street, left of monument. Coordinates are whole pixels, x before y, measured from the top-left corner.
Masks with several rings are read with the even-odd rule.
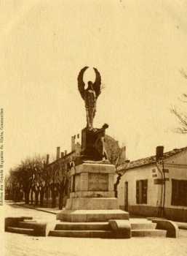
[[[63,208],[64,194],[68,193],[68,176],[61,175],[59,167],[49,173],[44,157],[27,158],[17,167],[10,170],[5,179],[5,199],[34,203],[36,206],[49,206],[49,195],[52,207],[56,207],[59,196],[59,208]],[[62,172],[64,173],[64,172]],[[44,196],[46,200],[44,201]]]

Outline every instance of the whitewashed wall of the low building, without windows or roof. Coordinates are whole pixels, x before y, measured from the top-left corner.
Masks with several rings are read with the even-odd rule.
[[[159,167],[162,170],[162,165],[159,165]],[[153,169],[155,173],[153,173]],[[172,178],[187,180],[187,149],[165,159],[164,169],[169,170],[169,173],[165,173],[166,178],[169,178],[169,181],[166,181],[164,204],[166,217],[179,221],[187,221],[187,207],[171,205]],[[153,177],[153,174],[156,174],[156,177]],[[124,182],[128,181],[128,211],[132,214],[145,215],[147,217],[157,216],[161,203],[162,184],[154,184],[154,180],[161,178],[162,176],[156,165],[144,165],[127,170],[122,176],[118,186],[120,208],[124,209]],[[136,181],[141,179],[148,179],[147,204],[136,204]]]

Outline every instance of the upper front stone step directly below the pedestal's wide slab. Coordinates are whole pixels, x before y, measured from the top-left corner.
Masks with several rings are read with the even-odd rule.
[[[62,222],[55,230],[111,230],[108,222]]]

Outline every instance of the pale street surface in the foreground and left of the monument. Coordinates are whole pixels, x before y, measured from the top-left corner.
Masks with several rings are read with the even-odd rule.
[[[5,216],[31,216],[55,220],[54,214],[5,205]],[[57,238],[2,233],[4,256],[186,256],[187,230],[180,230],[179,238]],[[2,240],[1,240],[2,241]],[[1,244],[3,246],[3,243]],[[3,248],[1,248],[3,249]]]

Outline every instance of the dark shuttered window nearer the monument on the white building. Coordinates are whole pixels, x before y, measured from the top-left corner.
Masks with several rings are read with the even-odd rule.
[[[136,203],[147,203],[148,180],[136,181]]]

